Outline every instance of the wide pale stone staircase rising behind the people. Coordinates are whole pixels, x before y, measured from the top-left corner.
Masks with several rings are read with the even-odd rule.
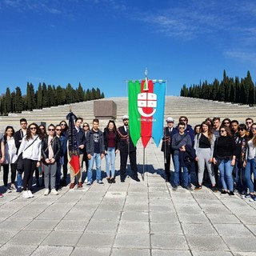
[[[98,101],[112,100],[117,104],[117,126],[122,125],[122,115],[128,114],[128,98],[103,98]],[[22,111],[21,114],[9,114],[8,116],[0,117],[0,132],[2,133],[6,126],[14,126],[14,130],[19,129],[20,118],[26,118],[28,123],[46,122],[58,124],[62,120],[66,120],[66,114],[70,109],[78,117],[82,117],[85,122],[91,124],[94,118],[94,101],[78,102],[64,106],[52,106],[50,108],[43,108],[42,110]],[[171,116],[178,122],[178,118],[185,115],[189,118],[190,125],[194,126],[200,124],[206,118],[219,117],[237,119],[238,122],[245,122],[247,117],[253,118],[256,121],[256,108],[250,106],[240,106],[238,104],[231,104],[225,102],[213,102],[198,98],[185,98],[178,96],[166,96],[165,118]],[[104,128],[108,122],[107,120],[100,120],[100,128]],[[164,122],[164,120],[163,120]]]

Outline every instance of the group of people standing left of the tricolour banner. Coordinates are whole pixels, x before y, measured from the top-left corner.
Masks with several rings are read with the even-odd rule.
[[[102,131],[98,129],[99,120],[94,118],[92,128],[82,118],[74,120],[76,142],[80,170],[75,173],[70,168],[70,189],[74,189],[77,181],[78,188],[82,188],[83,162],[86,163],[86,186],[93,183],[94,162],[96,165],[96,182],[102,182],[102,158],[106,158],[106,180],[115,183],[115,158],[120,153],[120,178],[126,179],[126,165],[130,158],[131,178],[140,182],[136,159],[136,146],[129,136],[129,117],[122,117],[123,126],[117,128],[114,120],[110,120]],[[67,185],[68,162],[72,157],[69,151],[69,127],[66,121],[58,125],[50,124],[47,127],[36,123],[27,124],[26,118],[20,120],[21,129],[14,131],[7,126],[1,139],[0,164],[3,169],[3,183],[7,193],[22,192],[23,198],[33,198],[32,181],[35,172],[36,184],[40,186],[39,176],[42,175],[42,186],[45,186],[44,195],[58,194],[61,186]],[[18,164],[22,162],[22,164]],[[9,170],[11,181],[8,187]],[[16,175],[17,174],[17,175]],[[63,176],[62,176],[63,174]],[[15,180],[17,176],[17,187]],[[61,178],[62,176],[62,178]],[[3,194],[0,194],[3,197]]]

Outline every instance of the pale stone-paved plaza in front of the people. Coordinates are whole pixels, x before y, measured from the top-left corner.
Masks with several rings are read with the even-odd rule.
[[[146,148],[145,180],[62,188],[34,198],[0,198],[0,255],[253,256],[256,203],[203,187],[172,191],[162,178],[163,156]],[[119,157],[116,161],[119,170]],[[142,172],[143,150],[138,145]],[[105,170],[105,161],[102,162]],[[2,172],[0,178],[2,186]]]

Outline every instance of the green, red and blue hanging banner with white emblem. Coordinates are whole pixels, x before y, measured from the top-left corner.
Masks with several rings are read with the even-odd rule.
[[[163,132],[166,82],[128,82],[130,137],[146,148],[152,137],[158,146]]]

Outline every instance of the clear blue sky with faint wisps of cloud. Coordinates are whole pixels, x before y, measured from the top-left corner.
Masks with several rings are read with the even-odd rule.
[[[127,79],[167,81],[166,94],[214,78],[256,81],[254,0],[1,0],[0,94],[81,82],[127,96]]]

